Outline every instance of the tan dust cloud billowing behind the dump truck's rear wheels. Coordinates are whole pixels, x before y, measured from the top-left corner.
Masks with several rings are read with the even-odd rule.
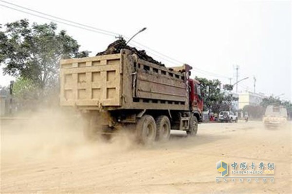
[[[128,131],[108,140],[85,140],[80,113],[52,110],[1,120],[1,162],[83,160],[133,149]]]

